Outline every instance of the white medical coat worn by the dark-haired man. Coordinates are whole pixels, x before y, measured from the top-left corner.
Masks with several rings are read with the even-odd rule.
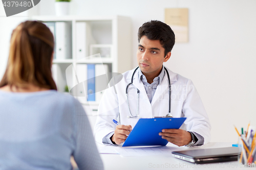
[[[131,116],[125,89],[127,84],[131,82],[135,68],[124,72],[123,78],[115,86],[104,91],[101,102],[98,107],[98,117],[94,129],[95,139],[102,142],[104,136],[115,131],[116,124],[113,119],[118,120],[121,125],[136,125],[139,118],[152,118],[155,116],[165,116],[169,109],[169,91],[168,78],[165,72],[163,80],[157,86],[152,102],[148,100],[144,85],[139,78],[138,70],[136,70],[133,85],[128,88],[129,106],[131,113],[135,116],[138,108],[139,92],[139,117],[128,118]],[[210,141],[210,122],[204,109],[201,98],[191,80],[168,70],[171,83],[171,114],[173,117],[186,117],[181,129],[196,132],[204,137],[204,144]],[[115,81],[115,79],[112,79]],[[136,88],[135,88],[136,87]]]

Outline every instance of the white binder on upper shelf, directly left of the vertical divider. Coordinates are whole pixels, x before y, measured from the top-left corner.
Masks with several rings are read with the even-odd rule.
[[[72,58],[71,23],[55,22],[56,59]]]

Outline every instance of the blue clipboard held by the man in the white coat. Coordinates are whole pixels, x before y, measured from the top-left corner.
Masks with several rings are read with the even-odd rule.
[[[159,136],[162,129],[179,129],[186,117],[140,118],[122,147],[166,145],[168,141]]]

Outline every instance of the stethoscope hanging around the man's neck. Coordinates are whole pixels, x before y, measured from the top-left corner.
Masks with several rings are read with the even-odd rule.
[[[170,114],[170,91],[171,91],[171,89],[170,89],[170,77],[169,77],[168,70],[165,68],[165,66],[163,66],[163,67],[164,67],[164,69],[165,69],[165,71],[166,71],[167,78],[168,78],[168,85],[169,85],[169,113],[166,114],[165,117],[173,117],[173,115]],[[136,113],[135,116],[132,114],[132,112],[131,112],[131,110],[130,110],[129,100],[128,100],[128,93],[127,93],[128,87],[129,87],[131,84],[133,84],[133,77],[134,77],[134,74],[135,74],[135,72],[136,72],[136,70],[137,70],[138,68],[139,68],[139,67],[137,67],[137,68],[134,70],[131,83],[129,83],[129,84],[126,86],[126,90],[125,90],[126,99],[127,99],[127,105],[128,105],[128,108],[129,108],[129,112],[130,112],[130,114],[131,114],[131,116],[127,116],[127,117],[130,117],[130,118],[139,117],[138,113],[139,113],[139,93],[140,93],[140,90],[139,90],[138,88],[136,88],[136,87],[133,87],[133,88],[136,88],[136,89],[137,89],[137,94],[138,94],[137,113]]]

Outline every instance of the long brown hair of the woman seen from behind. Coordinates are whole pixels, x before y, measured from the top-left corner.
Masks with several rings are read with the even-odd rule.
[[[44,23],[20,23],[12,32],[8,64],[0,87],[26,88],[29,83],[56,90],[51,72],[53,49],[53,35]]]

